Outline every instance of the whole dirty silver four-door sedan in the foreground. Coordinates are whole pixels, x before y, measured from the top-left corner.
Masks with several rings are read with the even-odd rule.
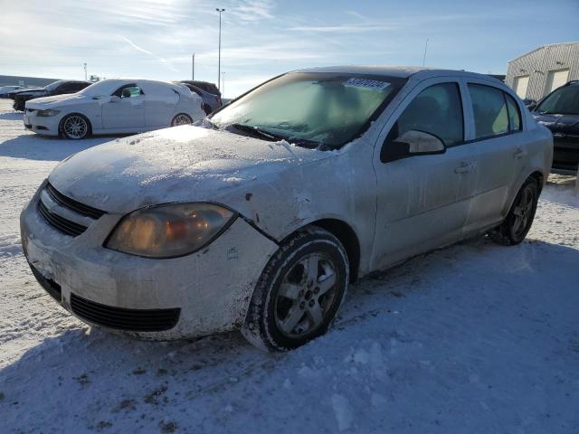
[[[371,271],[485,233],[523,241],[552,140],[484,75],[290,72],[202,127],[62,162],[22,213],[24,252],[91,325],[155,339],[241,329],[291,349],[325,333]]]

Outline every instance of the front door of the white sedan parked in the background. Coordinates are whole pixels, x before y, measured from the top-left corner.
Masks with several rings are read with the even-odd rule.
[[[116,90],[111,100],[101,107],[104,129],[145,127],[145,94],[136,83],[126,84]]]

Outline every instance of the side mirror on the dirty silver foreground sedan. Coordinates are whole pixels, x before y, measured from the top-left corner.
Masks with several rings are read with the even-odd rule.
[[[446,146],[441,138],[411,129],[402,136],[384,143],[380,159],[383,163],[389,163],[408,156],[427,156],[444,152],[446,152]]]

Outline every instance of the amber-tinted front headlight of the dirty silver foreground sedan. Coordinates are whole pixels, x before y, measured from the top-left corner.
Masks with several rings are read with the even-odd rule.
[[[147,258],[175,258],[214,241],[237,214],[214,203],[173,203],[131,212],[105,247]]]

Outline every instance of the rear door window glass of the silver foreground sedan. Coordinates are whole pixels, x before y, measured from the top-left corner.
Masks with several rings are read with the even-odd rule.
[[[469,84],[475,138],[493,137],[508,132],[508,111],[502,90]]]

